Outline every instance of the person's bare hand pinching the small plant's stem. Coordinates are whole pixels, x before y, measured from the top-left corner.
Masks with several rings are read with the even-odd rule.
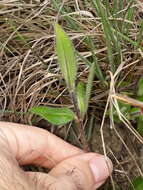
[[[0,189],[94,190],[112,172],[109,159],[84,153],[46,130],[0,122]],[[51,169],[25,172],[20,165]]]

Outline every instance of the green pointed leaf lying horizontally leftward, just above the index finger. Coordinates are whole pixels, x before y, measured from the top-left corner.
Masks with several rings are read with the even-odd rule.
[[[29,111],[54,125],[64,125],[75,119],[75,114],[69,108],[39,106],[31,108]]]

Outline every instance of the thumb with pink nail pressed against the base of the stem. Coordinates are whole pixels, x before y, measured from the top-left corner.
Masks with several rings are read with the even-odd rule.
[[[29,175],[34,175],[42,186],[44,184],[42,189],[95,190],[105,182],[112,170],[109,158],[96,153],[84,153],[62,161],[48,175]]]

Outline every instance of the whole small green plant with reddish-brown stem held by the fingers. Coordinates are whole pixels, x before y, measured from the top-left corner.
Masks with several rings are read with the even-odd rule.
[[[43,119],[46,119],[54,125],[64,125],[72,120],[75,120],[81,134],[81,141],[84,149],[87,149],[83,129],[83,120],[88,109],[96,63],[94,62],[90,67],[86,87],[84,87],[85,84],[81,81],[79,81],[76,85],[78,67],[76,63],[74,46],[59,24],[55,24],[55,35],[58,62],[74,105],[74,111],[67,107],[55,108],[46,106],[33,107],[29,109],[29,111]]]

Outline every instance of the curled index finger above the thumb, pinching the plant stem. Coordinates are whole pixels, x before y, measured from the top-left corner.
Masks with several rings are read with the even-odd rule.
[[[0,135],[7,140],[12,154],[22,165],[37,164],[51,168],[83,152],[47,130],[33,126],[0,122]]]

